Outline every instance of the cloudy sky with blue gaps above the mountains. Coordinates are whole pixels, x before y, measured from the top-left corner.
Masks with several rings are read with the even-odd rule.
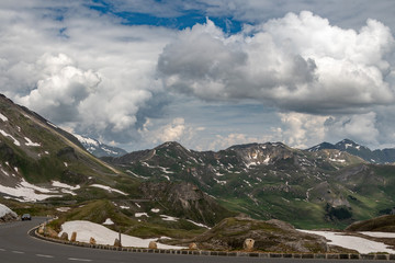
[[[2,0],[0,93],[128,151],[395,147],[393,0]]]

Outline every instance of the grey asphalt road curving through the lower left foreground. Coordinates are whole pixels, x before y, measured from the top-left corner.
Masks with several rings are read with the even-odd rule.
[[[234,262],[307,262],[307,263],[338,263],[338,262],[380,262],[362,260],[293,260],[293,259],[257,259],[257,258],[229,258],[229,256],[207,256],[207,255],[173,255],[173,254],[151,254],[151,253],[131,253],[120,251],[108,251],[89,248],[80,248],[53,243],[33,238],[27,231],[45,218],[33,218],[32,221],[16,221],[0,225],[0,262],[1,263],[234,263]]]

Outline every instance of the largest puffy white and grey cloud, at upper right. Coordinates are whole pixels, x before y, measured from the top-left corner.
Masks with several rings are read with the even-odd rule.
[[[368,20],[359,32],[312,12],[289,13],[226,35],[207,20],[161,54],[167,88],[203,100],[253,99],[307,113],[352,112],[394,102],[385,81],[391,30]]]

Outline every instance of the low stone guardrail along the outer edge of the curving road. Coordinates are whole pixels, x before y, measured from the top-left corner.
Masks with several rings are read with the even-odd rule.
[[[37,232],[38,227],[29,233],[36,238],[89,249],[102,249],[113,251],[124,251],[133,253],[156,253],[156,254],[179,254],[179,255],[211,255],[211,256],[250,256],[262,259],[301,259],[301,260],[384,260],[395,261],[395,254],[350,254],[350,253],[268,253],[268,252],[244,252],[244,251],[206,251],[206,250],[166,250],[166,249],[137,249],[126,247],[114,247],[108,244],[90,244],[83,242],[71,242],[61,239],[44,237]]]

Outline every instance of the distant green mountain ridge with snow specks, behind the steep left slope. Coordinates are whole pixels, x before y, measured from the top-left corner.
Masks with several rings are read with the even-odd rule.
[[[393,167],[338,149],[268,142],[198,152],[167,142],[105,160],[137,180],[190,182],[230,210],[300,228],[343,228],[394,206]]]

